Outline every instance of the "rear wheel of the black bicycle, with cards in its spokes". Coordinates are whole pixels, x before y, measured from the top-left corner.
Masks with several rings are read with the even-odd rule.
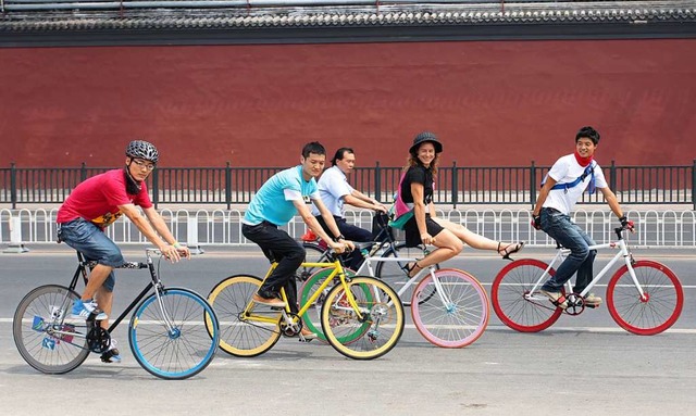
[[[47,332],[49,325],[61,331],[75,330],[65,319],[76,299],[79,295],[64,286],[47,285],[32,290],[17,305],[12,320],[14,343],[22,358],[37,370],[65,374],[87,360],[89,349],[84,333],[71,337]],[[85,320],[79,322],[86,331]]]

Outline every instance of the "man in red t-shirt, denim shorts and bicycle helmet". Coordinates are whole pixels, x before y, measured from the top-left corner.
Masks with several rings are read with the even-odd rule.
[[[113,304],[113,269],[125,263],[119,247],[104,232],[109,225],[125,215],[170,261],[190,256],[188,249],[176,242],[148,194],[145,180],[159,161],[157,149],[147,141],[134,140],[125,153],[124,168],[108,171],[79,184],[58,210],[57,218],[59,241],[65,241],[86,260],[98,263],[89,274],[80,299],[73,304],[72,315],[100,320],[104,329],[109,328]],[[101,360],[104,363],[121,361],[113,339]]]

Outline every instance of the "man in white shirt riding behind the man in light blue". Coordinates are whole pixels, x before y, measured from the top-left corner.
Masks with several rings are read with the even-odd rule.
[[[350,175],[356,166],[356,153],[350,148],[340,148],[336,151],[331,161],[333,166],[324,171],[316,182],[319,196],[328,211],[334,216],[334,220],[343,236],[350,241],[369,242],[372,241],[372,232],[348,224],[345,218],[345,204],[374,210],[386,213],[387,207],[366,194],[356,190],[348,184]],[[312,215],[316,217],[319,224],[328,232],[324,218],[319,213],[316,206],[312,205]],[[348,254],[349,268],[357,270],[362,264],[363,257],[359,250]]]

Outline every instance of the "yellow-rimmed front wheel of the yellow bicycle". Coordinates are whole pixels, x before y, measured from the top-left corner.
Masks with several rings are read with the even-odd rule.
[[[322,306],[322,328],[326,339],[347,357],[377,358],[391,351],[403,333],[403,305],[389,285],[374,277],[356,276],[347,285],[364,319],[361,320],[347,305],[344,286],[333,287]],[[372,300],[365,297],[365,292]],[[359,338],[352,339],[357,332]],[[347,342],[348,338],[351,338],[350,342]]]

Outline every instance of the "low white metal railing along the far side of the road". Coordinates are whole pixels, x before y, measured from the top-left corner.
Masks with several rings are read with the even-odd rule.
[[[51,210],[0,210],[0,244],[49,243],[55,241],[57,209]],[[241,235],[239,210],[160,210],[174,236],[182,242],[198,244],[249,244]],[[696,248],[696,212],[673,210],[625,211],[637,227],[632,235],[633,247]],[[494,240],[527,241],[530,245],[548,247],[555,242],[544,232],[530,226],[529,210],[451,210],[438,215],[461,223],[474,232]],[[362,228],[372,227],[372,213],[368,211],[348,211],[347,219]],[[16,219],[12,218],[18,218]],[[111,225],[107,234],[117,243],[145,243],[146,239],[126,218]],[[579,210],[573,219],[599,244],[613,238],[613,228],[618,220],[609,211]],[[20,224],[21,230],[15,229]],[[294,218],[284,227],[290,236],[299,238],[306,226],[300,217]],[[21,241],[15,241],[20,239]]]

